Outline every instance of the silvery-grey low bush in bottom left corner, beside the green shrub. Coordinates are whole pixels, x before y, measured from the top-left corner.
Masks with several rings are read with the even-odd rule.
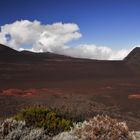
[[[0,125],[0,140],[52,140],[43,128],[27,127],[25,121],[13,118]]]

